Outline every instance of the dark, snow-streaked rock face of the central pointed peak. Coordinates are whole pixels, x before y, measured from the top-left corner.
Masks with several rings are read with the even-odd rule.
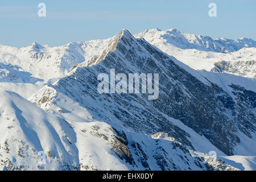
[[[116,73],[125,74],[159,73],[158,100],[148,100],[147,94],[98,93],[98,74],[109,74],[112,68]],[[61,107],[70,111],[71,108],[61,101],[61,95],[65,95],[88,109],[94,118],[110,125],[115,123],[143,134],[164,132],[191,148],[189,134],[170,122],[170,118],[179,119],[226,155],[233,155],[240,143],[238,130],[249,138],[255,131],[254,97],[250,96],[250,102],[238,102],[241,97],[237,94],[230,95],[207,78],[202,82],[175,64],[173,57],[143,39],[135,39],[126,30],[109,44],[98,60],[90,63],[90,67],[80,64],[69,76],[48,87],[55,93],[52,101],[42,103],[42,97],[51,94],[46,88],[31,97],[31,101],[52,113]],[[255,94],[250,90],[245,92]]]

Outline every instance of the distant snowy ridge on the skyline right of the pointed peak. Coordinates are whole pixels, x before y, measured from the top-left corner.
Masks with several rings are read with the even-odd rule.
[[[144,38],[152,44],[169,44],[181,49],[197,49],[199,51],[234,52],[241,48],[256,47],[256,42],[249,38],[236,40],[218,38],[213,40],[209,36],[188,34],[175,28],[161,31],[158,28],[146,30],[134,35],[136,38]]]

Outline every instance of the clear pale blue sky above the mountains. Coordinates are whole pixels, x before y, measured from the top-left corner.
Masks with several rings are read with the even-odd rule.
[[[46,17],[38,4],[46,4]],[[208,15],[216,3],[217,17]],[[0,0],[0,44],[61,46],[149,28],[256,40],[256,0]]]

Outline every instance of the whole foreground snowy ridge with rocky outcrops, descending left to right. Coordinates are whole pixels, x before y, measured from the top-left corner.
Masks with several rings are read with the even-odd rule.
[[[16,93],[1,92],[0,98],[0,169],[237,169],[221,160],[194,158],[167,134],[124,133],[105,122],[65,121]]]

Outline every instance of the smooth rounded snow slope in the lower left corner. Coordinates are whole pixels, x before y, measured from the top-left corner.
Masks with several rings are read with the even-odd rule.
[[[0,168],[73,169],[79,165],[69,125],[13,92],[0,94]],[[73,134],[75,135],[75,134]],[[45,167],[38,152],[48,155]],[[71,165],[73,164],[73,166]]]

